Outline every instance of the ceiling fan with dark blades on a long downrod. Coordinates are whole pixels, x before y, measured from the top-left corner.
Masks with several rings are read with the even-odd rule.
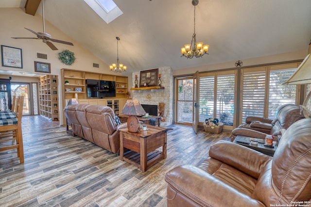
[[[66,44],[66,45],[72,45],[73,44],[71,42],[66,42],[63,40],[56,40],[56,39],[52,39],[51,34],[46,33],[45,32],[45,23],[44,23],[44,0],[42,0],[42,18],[43,18],[43,32],[35,32],[31,29],[27,29],[29,32],[33,32],[35,35],[37,35],[37,37],[12,37],[13,39],[40,39],[42,40],[44,43],[46,43],[52,50],[57,50],[57,48],[53,45],[52,42],[57,42],[57,43],[62,43],[62,44]]]

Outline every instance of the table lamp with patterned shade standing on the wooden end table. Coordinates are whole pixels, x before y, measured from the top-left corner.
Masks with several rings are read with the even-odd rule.
[[[146,111],[142,108],[138,100],[127,100],[121,114],[129,116],[127,118],[127,129],[130,132],[140,131],[140,122],[136,116],[142,116],[146,114]]]

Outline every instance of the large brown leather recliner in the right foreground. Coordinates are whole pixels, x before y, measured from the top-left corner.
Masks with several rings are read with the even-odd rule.
[[[286,130],[274,157],[220,141],[197,167],[175,167],[165,181],[168,207],[306,204],[311,201],[311,119]]]

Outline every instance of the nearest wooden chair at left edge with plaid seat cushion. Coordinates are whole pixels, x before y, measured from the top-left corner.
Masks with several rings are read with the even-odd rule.
[[[24,96],[17,97],[16,118],[0,120],[0,151],[17,149],[20,163],[24,163],[23,137],[21,118],[23,114]]]

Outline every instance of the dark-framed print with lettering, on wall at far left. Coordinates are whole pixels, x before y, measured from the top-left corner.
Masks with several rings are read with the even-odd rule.
[[[23,68],[20,48],[1,45],[2,66]]]

